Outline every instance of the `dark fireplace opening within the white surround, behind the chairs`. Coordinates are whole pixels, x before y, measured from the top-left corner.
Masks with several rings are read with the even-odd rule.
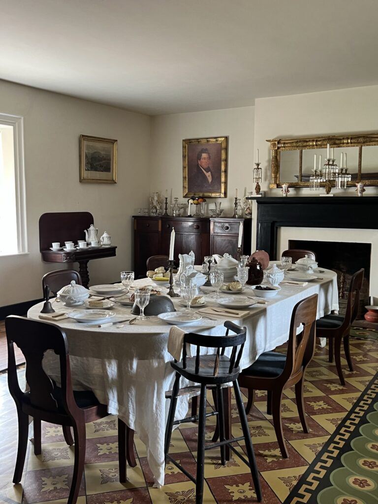
[[[339,313],[346,309],[346,299],[350,278],[360,268],[364,268],[364,277],[360,292],[360,306],[357,317],[362,318],[364,306],[369,304],[369,279],[371,261],[371,243],[343,241],[289,240],[288,248],[312,250],[317,255],[319,268],[326,268],[337,273],[339,289]]]

